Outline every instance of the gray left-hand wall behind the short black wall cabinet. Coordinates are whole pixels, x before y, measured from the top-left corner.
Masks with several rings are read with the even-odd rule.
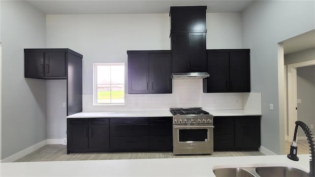
[[[24,48],[45,47],[45,14],[1,0],[1,159],[46,139],[46,83],[24,78]]]

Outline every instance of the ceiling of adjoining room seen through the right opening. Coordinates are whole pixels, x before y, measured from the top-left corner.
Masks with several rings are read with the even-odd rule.
[[[315,29],[286,39],[284,42],[284,55],[315,48]]]

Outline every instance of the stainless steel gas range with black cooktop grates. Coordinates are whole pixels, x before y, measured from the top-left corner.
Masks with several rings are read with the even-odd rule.
[[[213,115],[201,108],[170,108],[173,154],[213,153]]]

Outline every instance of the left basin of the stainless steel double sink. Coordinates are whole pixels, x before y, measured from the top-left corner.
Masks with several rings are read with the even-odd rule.
[[[216,177],[255,177],[244,168],[220,168],[213,171]]]

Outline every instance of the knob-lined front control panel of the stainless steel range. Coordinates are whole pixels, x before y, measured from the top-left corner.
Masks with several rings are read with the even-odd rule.
[[[213,124],[213,117],[191,118],[191,117],[173,117],[173,124]]]

